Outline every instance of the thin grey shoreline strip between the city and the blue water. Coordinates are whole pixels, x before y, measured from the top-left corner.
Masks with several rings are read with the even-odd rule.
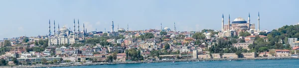
[[[235,58],[235,59],[188,59],[188,60],[166,60],[166,61],[138,61],[138,62],[113,62],[113,63],[85,63],[69,65],[36,65],[36,66],[4,66],[0,68],[47,68],[47,67],[72,67],[72,66],[95,66],[95,65],[116,65],[116,64],[141,64],[141,63],[165,63],[165,62],[196,62],[196,61],[242,61],[242,60],[291,60],[298,57],[276,57],[276,58]]]

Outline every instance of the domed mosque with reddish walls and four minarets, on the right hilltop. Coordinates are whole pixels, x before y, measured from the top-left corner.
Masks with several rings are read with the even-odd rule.
[[[230,24],[230,15],[228,15],[228,24],[224,24],[224,15],[222,14],[222,27],[220,36],[232,37],[238,36],[240,32],[249,32],[252,35],[260,32],[260,12],[258,13],[258,30],[255,30],[255,24],[250,23],[250,14],[248,14],[248,20],[241,17],[237,17]]]

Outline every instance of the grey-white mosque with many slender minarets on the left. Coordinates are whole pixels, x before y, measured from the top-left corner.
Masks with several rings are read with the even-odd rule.
[[[84,35],[87,32],[83,23],[83,31],[79,30],[79,20],[78,20],[78,32],[76,32],[75,26],[75,19],[74,19],[74,31],[70,31],[70,29],[63,26],[59,28],[58,24],[58,31],[55,31],[55,20],[54,20],[54,34],[51,35],[51,28],[50,28],[50,20],[49,20],[49,42],[48,45],[63,45],[63,44],[74,44],[74,43],[82,43],[85,38]]]

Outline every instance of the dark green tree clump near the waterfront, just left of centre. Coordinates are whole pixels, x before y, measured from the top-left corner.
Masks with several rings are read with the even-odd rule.
[[[140,61],[140,60],[144,60],[144,57],[141,54],[140,50],[136,50],[136,49],[129,49],[125,51],[126,55],[127,55],[127,59],[131,58],[132,61]]]

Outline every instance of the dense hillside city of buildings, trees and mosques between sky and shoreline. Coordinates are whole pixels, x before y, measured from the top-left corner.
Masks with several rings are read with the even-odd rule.
[[[131,31],[129,24],[127,29],[114,29],[112,21],[107,29],[111,31],[88,32],[79,19],[74,19],[73,29],[49,20],[44,22],[49,23],[48,35],[0,40],[0,66],[298,57],[299,25],[260,30],[260,13],[256,14],[257,20],[248,14],[247,21],[236,17],[232,22],[228,15],[227,24],[222,15],[221,30],[190,32],[176,31],[175,22],[173,29],[161,23],[160,29]],[[257,21],[257,27],[251,21]]]

